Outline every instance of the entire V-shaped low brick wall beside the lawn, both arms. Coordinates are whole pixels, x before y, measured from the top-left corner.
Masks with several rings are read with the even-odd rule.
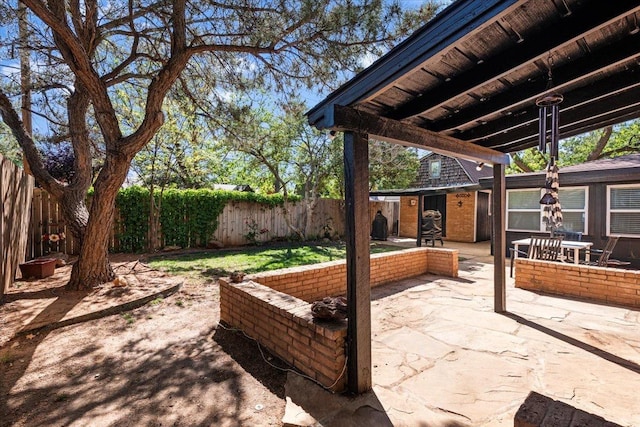
[[[458,250],[415,248],[371,256],[371,286],[432,273],[458,277]],[[333,391],[346,384],[347,322],[313,319],[311,302],[346,293],[346,263],[325,262],[220,279],[220,320]],[[259,283],[257,283],[259,282]]]

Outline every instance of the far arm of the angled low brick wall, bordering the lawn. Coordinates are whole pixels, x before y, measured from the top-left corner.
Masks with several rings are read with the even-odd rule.
[[[347,269],[344,260],[285,268],[248,276],[255,282],[307,302],[345,295]],[[458,277],[458,250],[414,248],[371,255],[371,286],[431,273]]]

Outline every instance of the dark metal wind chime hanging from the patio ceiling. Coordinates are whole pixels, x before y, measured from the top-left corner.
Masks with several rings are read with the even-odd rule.
[[[551,67],[549,67],[548,76],[547,91],[553,87]],[[547,146],[549,147],[548,172],[554,169],[557,170],[556,160],[558,158],[558,140],[560,134],[558,116],[560,112],[559,105],[563,100],[564,97],[557,92],[548,92],[536,99],[539,117],[538,149],[542,154],[547,154]],[[557,196],[554,195],[554,193],[557,194],[558,191],[557,185],[557,179],[555,179],[554,183],[553,179],[549,179],[548,173],[545,181],[547,192],[542,196],[542,199],[540,199],[541,205],[553,205],[558,202]]]

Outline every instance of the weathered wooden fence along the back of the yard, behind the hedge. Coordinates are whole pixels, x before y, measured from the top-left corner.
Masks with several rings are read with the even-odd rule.
[[[388,202],[371,202],[370,216],[378,210],[389,219],[393,217],[393,204]],[[254,202],[231,201],[226,204],[222,214],[218,217],[218,228],[212,236],[212,240],[222,243],[224,246],[240,246],[252,243],[247,235],[255,232],[257,242],[266,242],[272,239],[284,239],[293,234],[285,220],[285,215],[296,228],[302,228],[306,215],[304,202],[291,204],[288,212],[282,206],[267,206]],[[313,214],[313,219],[308,227],[311,235],[323,237],[325,231],[331,235],[344,235],[344,202],[336,199],[320,199]],[[115,215],[116,221],[109,244],[112,252],[121,252],[118,235],[121,221],[119,213]],[[389,231],[392,229],[392,221],[389,220]],[[29,246],[27,257],[37,258],[51,252],[63,252],[67,254],[78,253],[78,243],[67,232],[62,219],[61,211],[51,196],[41,189],[34,189],[33,203],[31,207],[31,224],[29,228]],[[159,242],[163,242],[162,232],[159,232]],[[389,233],[391,234],[391,233]],[[58,238],[51,239],[56,235]],[[63,235],[65,238],[60,239]]]

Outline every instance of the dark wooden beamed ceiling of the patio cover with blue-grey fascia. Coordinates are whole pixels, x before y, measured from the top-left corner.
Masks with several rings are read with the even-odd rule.
[[[639,22],[638,0],[458,0],[314,107],[309,122],[329,128],[325,117],[343,105],[370,114],[376,132],[385,126],[376,121],[394,123],[378,139],[438,151],[439,133],[455,138],[439,152],[455,156],[458,145],[471,159],[482,157],[473,146],[520,151],[537,145],[535,100],[549,91],[549,68],[565,98],[561,138],[637,118]],[[415,139],[432,133],[401,141],[398,123]]]

